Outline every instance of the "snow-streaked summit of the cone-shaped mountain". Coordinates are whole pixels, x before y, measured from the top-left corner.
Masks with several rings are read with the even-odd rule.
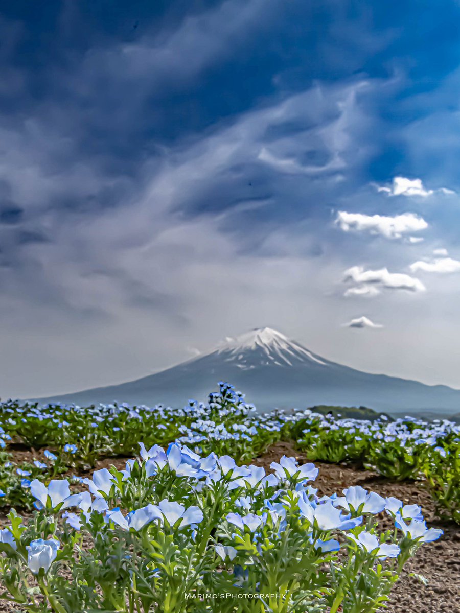
[[[269,360],[265,361],[265,364],[292,366],[293,362],[308,361],[326,365],[323,360],[299,343],[289,340],[281,332],[268,327],[255,328],[236,338],[227,337],[217,347],[219,354],[228,354],[227,359],[237,360],[241,367],[247,365],[248,354],[255,351],[263,354],[264,360]]]

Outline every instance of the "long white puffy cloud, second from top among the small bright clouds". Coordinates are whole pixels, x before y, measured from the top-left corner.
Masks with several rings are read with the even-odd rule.
[[[381,234],[385,238],[402,238],[410,232],[420,232],[428,227],[426,221],[415,213],[402,213],[402,215],[364,215],[364,213],[348,213],[339,211],[335,223],[344,232],[369,232]],[[417,238],[410,237],[410,242],[418,242]],[[421,239],[423,240],[423,239]]]

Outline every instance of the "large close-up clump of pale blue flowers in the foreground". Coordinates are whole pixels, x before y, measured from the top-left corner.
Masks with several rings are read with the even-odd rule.
[[[442,533],[359,486],[318,497],[313,463],[271,466],[141,444],[84,492],[33,479],[33,519],[12,511],[0,531],[2,598],[29,613],[370,613]]]

